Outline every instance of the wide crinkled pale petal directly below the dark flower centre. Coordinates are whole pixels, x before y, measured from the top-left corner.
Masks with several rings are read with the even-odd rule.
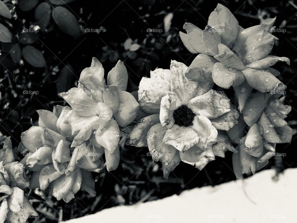
[[[190,127],[173,125],[166,130],[163,142],[184,152],[199,142],[199,136]]]

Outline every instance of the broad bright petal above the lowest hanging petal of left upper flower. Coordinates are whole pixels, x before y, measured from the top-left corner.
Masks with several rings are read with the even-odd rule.
[[[120,130],[117,122],[112,119],[106,127],[97,129],[95,138],[101,146],[113,153],[120,141]]]

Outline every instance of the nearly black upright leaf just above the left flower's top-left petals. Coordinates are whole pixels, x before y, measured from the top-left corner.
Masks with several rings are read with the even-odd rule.
[[[64,91],[68,91],[68,89],[70,89],[73,76],[73,68],[70,64],[62,68],[56,84],[58,94]]]

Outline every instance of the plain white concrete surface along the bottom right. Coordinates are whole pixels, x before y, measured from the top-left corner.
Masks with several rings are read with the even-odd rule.
[[[274,170],[215,187],[184,191],[157,201],[104,209],[67,223],[296,223],[297,168],[286,169],[273,181]]]

